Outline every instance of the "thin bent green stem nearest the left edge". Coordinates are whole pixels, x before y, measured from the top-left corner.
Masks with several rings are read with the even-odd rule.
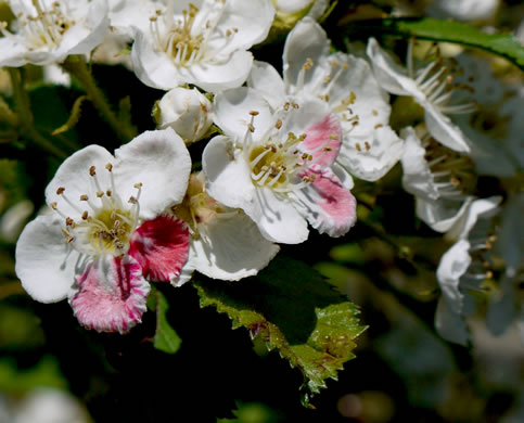
[[[13,86],[16,112],[18,116],[23,116],[18,121],[21,133],[56,157],[62,159],[66,158],[67,154],[65,152],[56,148],[50,140],[35,129],[29,95],[27,95],[27,91],[24,88],[20,70],[14,67],[8,67],[8,72],[11,77],[11,85]]]

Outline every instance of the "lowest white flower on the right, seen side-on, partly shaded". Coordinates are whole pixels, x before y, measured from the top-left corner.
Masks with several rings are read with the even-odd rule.
[[[437,305],[435,326],[440,335],[451,342],[465,345],[469,339],[465,317],[475,308],[468,294],[480,291],[481,283],[493,278],[486,269],[486,258],[478,252],[489,252],[496,241],[490,218],[497,211],[500,197],[475,200],[453,228],[458,239],[442,257],[437,280],[443,296]],[[475,229],[475,230],[474,230]]]

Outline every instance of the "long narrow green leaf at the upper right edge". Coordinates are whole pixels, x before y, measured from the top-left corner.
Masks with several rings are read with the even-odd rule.
[[[468,24],[440,21],[431,17],[404,17],[387,20],[353,21],[347,31],[361,34],[385,33],[404,38],[447,41],[475,47],[498,54],[524,69],[524,48],[510,34],[486,34]]]

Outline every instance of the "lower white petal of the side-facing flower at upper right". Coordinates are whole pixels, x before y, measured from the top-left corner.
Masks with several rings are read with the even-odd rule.
[[[420,103],[425,110],[425,125],[427,131],[443,145],[448,149],[468,153],[470,151],[470,141],[462,133],[460,128],[455,125],[451,119],[442,114],[430,102]]]

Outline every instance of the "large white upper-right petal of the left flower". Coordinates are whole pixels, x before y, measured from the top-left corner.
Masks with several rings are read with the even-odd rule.
[[[146,131],[115,151],[115,183],[123,201],[137,195],[142,183],[140,216],[153,219],[186,194],[191,157],[171,128]]]

